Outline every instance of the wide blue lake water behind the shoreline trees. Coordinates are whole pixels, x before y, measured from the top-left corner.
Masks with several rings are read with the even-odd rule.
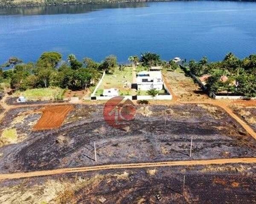
[[[256,53],[256,3],[175,1],[0,10],[0,64],[44,51],[120,63],[141,52],[210,61]]]

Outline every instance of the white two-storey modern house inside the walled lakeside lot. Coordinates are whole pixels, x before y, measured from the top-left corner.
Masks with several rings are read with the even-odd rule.
[[[162,90],[162,73],[161,71],[141,71],[137,73],[138,90]]]

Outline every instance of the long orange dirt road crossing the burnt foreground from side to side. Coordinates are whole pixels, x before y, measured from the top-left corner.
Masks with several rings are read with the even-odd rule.
[[[66,169],[53,169],[46,171],[32,171],[20,173],[4,173],[0,174],[0,180],[12,180],[27,177],[38,177],[46,175],[57,175],[62,173],[78,173],[88,171],[102,171],[112,169],[137,169],[150,167],[177,167],[177,166],[200,166],[200,165],[227,165],[238,163],[256,163],[256,158],[225,158],[213,160],[180,160],[180,161],[166,161],[158,163],[132,163],[132,164],[117,164],[117,165],[100,165],[93,167],[74,167]]]

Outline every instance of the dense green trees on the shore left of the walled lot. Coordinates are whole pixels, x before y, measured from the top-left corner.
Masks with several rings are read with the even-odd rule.
[[[102,63],[91,58],[78,61],[70,54],[63,61],[57,52],[44,52],[36,63],[23,63],[16,57],[9,58],[0,69],[0,83],[10,84],[14,90],[48,88],[50,86],[82,90],[98,82],[103,71],[109,72],[117,66],[115,56],[107,56]]]

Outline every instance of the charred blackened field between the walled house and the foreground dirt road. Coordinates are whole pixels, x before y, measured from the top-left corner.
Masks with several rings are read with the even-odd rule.
[[[59,129],[32,131],[40,108],[16,108],[5,116],[0,129],[11,126],[22,139],[0,148],[1,173],[256,156],[256,141],[223,109],[210,105],[137,106],[126,129],[106,124],[102,105],[75,105]]]

